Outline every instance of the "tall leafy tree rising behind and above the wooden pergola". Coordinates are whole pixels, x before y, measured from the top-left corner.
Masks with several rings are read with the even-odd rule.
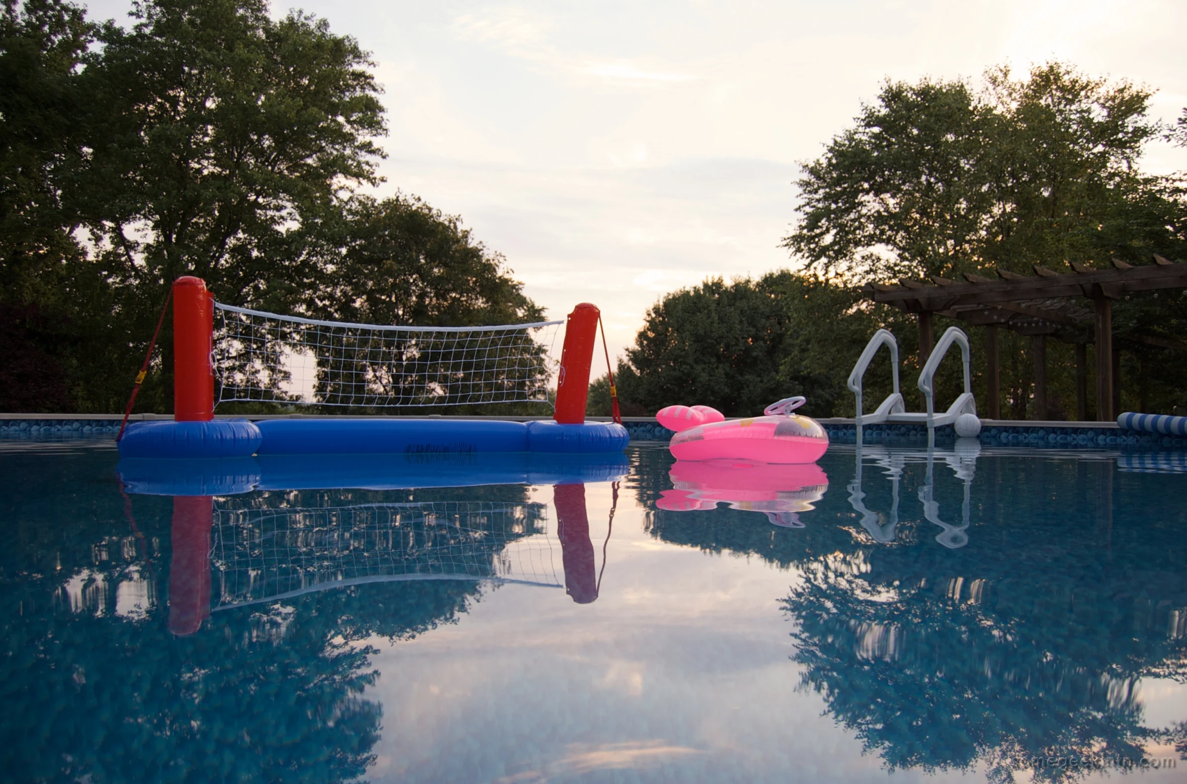
[[[1145,145],[1162,133],[1148,116],[1150,95],[1062,63],[1032,68],[1021,79],[1005,66],[990,69],[979,91],[964,81],[887,82],[853,128],[804,164],[804,205],[783,244],[808,270],[850,286],[1187,257],[1182,178],[1138,168]],[[1187,139],[1183,127],[1170,132],[1173,140]],[[1175,337],[1185,307],[1181,292],[1163,292],[1131,295],[1115,308],[1123,407],[1187,407],[1183,344]],[[855,305],[839,318],[859,323],[863,312]],[[804,327],[825,345],[834,330],[826,320]],[[896,334],[909,340],[913,332]],[[1002,350],[1011,416],[1058,416],[1032,410],[1027,343],[1007,334]],[[1050,346],[1050,402],[1074,400],[1074,376],[1069,345]]]

